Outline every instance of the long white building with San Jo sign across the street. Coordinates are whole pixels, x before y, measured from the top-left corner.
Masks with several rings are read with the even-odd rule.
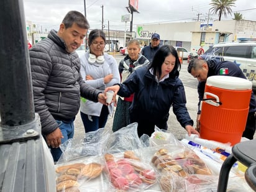
[[[137,25],[136,37],[141,43],[148,44],[151,35],[160,34],[161,44],[185,47],[188,50],[204,51],[209,45],[231,42],[239,38],[256,38],[255,21],[214,21],[212,24],[201,22],[176,22],[168,24]]]

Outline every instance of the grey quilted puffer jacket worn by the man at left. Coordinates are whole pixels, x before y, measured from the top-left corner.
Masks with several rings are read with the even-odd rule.
[[[35,112],[39,113],[43,135],[57,129],[55,119],[75,119],[80,108],[80,93],[98,102],[101,91],[83,81],[78,54],[66,52],[57,31],[51,30],[47,38],[30,48],[29,55]]]

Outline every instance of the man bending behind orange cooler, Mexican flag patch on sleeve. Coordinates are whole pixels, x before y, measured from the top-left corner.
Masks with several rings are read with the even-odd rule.
[[[223,69],[227,71],[227,73],[222,74]],[[217,62],[216,60],[199,60],[197,58],[190,61],[188,64],[188,72],[191,73],[194,78],[197,78],[198,83],[198,98],[199,103],[203,100],[204,96],[204,88],[206,85],[206,79],[209,76],[213,75],[227,75],[227,76],[235,76],[239,78],[246,79],[242,70],[240,70],[239,66],[237,66],[233,62]],[[196,119],[196,127],[199,129],[199,119],[201,111],[199,110],[199,103],[198,103],[198,117]],[[249,104],[249,114],[247,117],[247,122],[245,126],[245,130],[243,132],[242,137],[247,137],[248,139],[254,139],[255,133],[255,111],[256,111],[256,101],[254,98],[254,92],[252,91],[252,95],[250,98]]]

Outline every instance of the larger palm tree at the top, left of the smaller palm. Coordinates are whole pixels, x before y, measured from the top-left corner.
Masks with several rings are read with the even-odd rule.
[[[210,10],[213,14],[218,14],[219,21],[221,21],[222,14],[227,17],[227,14],[232,13],[231,7],[235,7],[235,1],[236,0],[212,0],[211,3],[209,3],[209,5],[213,6]]]

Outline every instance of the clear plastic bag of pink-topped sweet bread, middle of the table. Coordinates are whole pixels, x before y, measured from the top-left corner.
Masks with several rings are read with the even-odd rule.
[[[154,168],[142,162],[133,151],[124,153],[106,153],[106,176],[111,187],[109,191],[142,191],[157,183]]]

